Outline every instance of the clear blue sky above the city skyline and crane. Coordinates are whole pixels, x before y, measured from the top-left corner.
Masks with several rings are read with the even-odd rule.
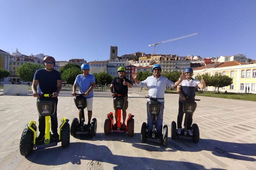
[[[256,59],[256,0],[0,0],[0,49],[56,60],[156,54]]]

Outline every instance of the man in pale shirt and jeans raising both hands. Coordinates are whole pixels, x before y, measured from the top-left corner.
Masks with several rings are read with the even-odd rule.
[[[148,87],[148,96],[151,96],[153,98],[164,98],[165,89],[166,86],[168,87],[177,87],[179,83],[182,82],[182,80],[185,79],[185,74],[182,72],[180,79],[177,82],[172,82],[168,80],[166,77],[163,77],[161,75],[161,66],[159,64],[155,64],[152,68],[153,75],[147,77],[146,80],[140,82],[137,79],[137,74],[132,72],[132,77],[135,80],[135,83],[140,86],[147,86]],[[158,101],[161,103],[161,111],[160,114],[157,116],[156,120],[156,129],[157,129],[157,136],[158,138],[162,138],[162,128],[163,128],[163,109],[165,108],[165,100],[164,99],[158,99]],[[148,99],[149,102],[149,99]],[[153,119],[152,116],[149,114],[147,110],[147,136],[152,135],[153,130]]]

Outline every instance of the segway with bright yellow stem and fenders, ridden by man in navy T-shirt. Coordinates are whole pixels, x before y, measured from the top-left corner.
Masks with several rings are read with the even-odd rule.
[[[41,117],[45,117],[45,136],[40,142],[36,141],[36,122],[30,121],[26,128],[24,128],[20,139],[20,153],[23,156],[28,156],[32,153],[33,149],[43,149],[49,148],[51,146],[56,146],[58,142],[61,142],[61,146],[66,148],[70,143],[70,127],[68,119],[62,118],[59,127],[59,138],[54,140],[50,132],[50,119],[51,115],[55,113],[55,101],[52,99],[52,95],[42,94],[37,102],[38,114]]]

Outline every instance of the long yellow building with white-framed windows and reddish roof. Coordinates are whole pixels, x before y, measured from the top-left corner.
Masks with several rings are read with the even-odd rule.
[[[228,61],[214,63],[194,69],[194,75],[202,74],[222,74],[233,79],[230,86],[222,87],[219,91],[234,93],[254,93],[256,94],[256,64],[242,63],[239,61]],[[215,87],[206,87],[206,91],[214,91]]]

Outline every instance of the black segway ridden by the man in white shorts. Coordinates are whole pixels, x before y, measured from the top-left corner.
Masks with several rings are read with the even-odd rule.
[[[76,94],[74,98],[75,106],[77,106],[77,109],[81,110],[82,120],[81,122],[79,122],[79,120],[76,117],[72,120],[70,128],[70,135],[72,136],[75,136],[77,134],[91,134],[91,136],[96,135],[97,119],[93,118],[93,120],[91,120],[91,126],[89,128],[88,125],[85,124],[84,109],[87,107],[87,101],[84,95],[85,93]]]

